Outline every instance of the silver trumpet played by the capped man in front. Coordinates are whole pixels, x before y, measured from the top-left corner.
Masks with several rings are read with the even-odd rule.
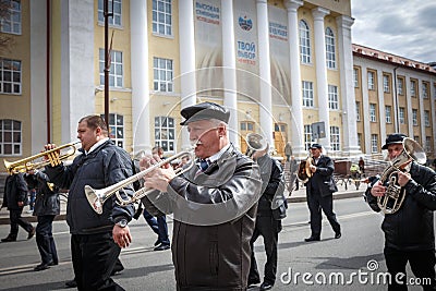
[[[132,197],[129,197],[126,199],[121,197],[120,190],[124,186],[133,184],[133,182],[138,181],[140,179],[144,178],[146,174],[153,172],[154,170],[161,168],[162,166],[168,165],[171,161],[182,158],[182,157],[185,157],[185,156],[190,157],[191,162],[189,163],[189,166],[186,168],[178,169],[175,171],[175,174],[180,175],[180,174],[191,170],[191,168],[195,165],[195,162],[194,162],[195,155],[194,155],[193,150],[185,150],[185,151],[175,154],[169,158],[166,158],[166,159],[159,161],[158,163],[154,165],[153,167],[150,167],[148,169],[145,169],[132,177],[129,177],[128,179],[124,179],[124,180],[122,180],[111,186],[105,187],[105,189],[95,190],[89,185],[85,185],[85,196],[88,199],[88,203],[92,206],[92,208],[99,215],[102,214],[102,207],[104,207],[105,202],[109,197],[111,197],[113,194],[117,196],[117,203],[121,206],[126,206],[129,204],[135,203],[155,190],[154,189],[150,189],[150,190],[141,189],[141,190],[136,191]]]

